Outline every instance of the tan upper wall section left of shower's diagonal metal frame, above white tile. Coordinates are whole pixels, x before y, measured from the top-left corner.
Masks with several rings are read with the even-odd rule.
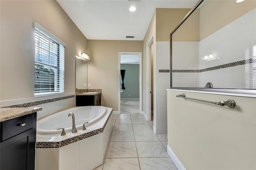
[[[156,41],[170,41],[170,33],[190,9],[156,8]]]

